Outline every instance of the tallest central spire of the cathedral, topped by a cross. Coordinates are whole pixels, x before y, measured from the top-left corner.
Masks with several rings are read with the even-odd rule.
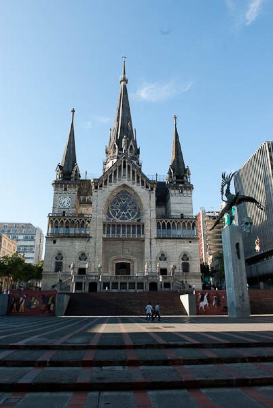
[[[111,138],[106,147],[105,170],[123,154],[127,155],[139,165],[139,148],[135,140],[127,92],[128,79],[126,77],[125,59],[123,56],[122,75],[120,77],[120,93],[116,117]]]

